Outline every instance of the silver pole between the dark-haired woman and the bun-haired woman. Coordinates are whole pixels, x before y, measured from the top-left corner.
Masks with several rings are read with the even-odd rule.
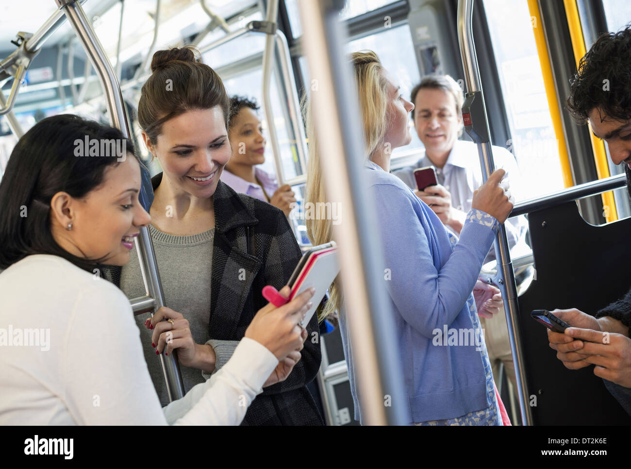
[[[66,16],[68,16],[68,20],[71,23],[74,32],[76,32],[77,36],[81,40],[81,44],[83,44],[86,56],[90,58],[92,66],[97,71],[105,93],[107,109],[110,112],[112,125],[121,129],[122,134],[127,138],[131,137],[121,88],[119,88],[116,74],[114,73],[114,69],[112,69],[112,65],[107,58],[107,54],[105,54],[105,50],[103,50],[103,46],[99,42],[90,21],[86,18],[85,12],[83,11],[83,8],[81,8],[81,4],[76,0],[56,1],[59,7],[64,10]],[[149,174],[143,167],[144,182],[146,182],[148,178]],[[151,188],[150,184],[149,188]],[[143,204],[145,210],[149,210],[152,201],[151,199],[153,199],[153,191],[151,194],[144,194],[141,191],[141,203]],[[164,295],[162,293],[162,284],[160,283],[160,275],[158,273],[158,266],[156,265],[155,254],[153,252],[153,243],[151,242],[151,235],[147,227],[141,228],[136,247],[138,249],[138,256],[141,259],[143,279],[146,285],[147,295],[155,300],[155,308],[158,309],[164,306]],[[160,355],[160,361],[162,362],[162,371],[165,376],[165,382],[167,383],[169,399],[173,401],[182,398],[184,396],[184,384],[182,384],[182,377],[180,376],[175,351],[172,355],[168,355],[168,357]]]

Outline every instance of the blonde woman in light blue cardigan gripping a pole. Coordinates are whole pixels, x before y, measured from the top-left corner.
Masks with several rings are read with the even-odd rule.
[[[390,272],[384,283],[399,338],[410,423],[502,425],[472,290],[498,226],[512,210],[510,193],[500,184],[504,170],[495,171],[476,191],[460,239],[450,239],[437,215],[389,173],[391,150],[410,143],[408,112],[413,104],[403,98],[396,79],[374,52],[351,57],[367,143],[367,197],[377,213],[375,230],[382,239],[384,268]],[[306,199],[317,203],[326,198],[317,141],[310,130]],[[307,233],[313,244],[331,240],[331,220],[307,220]],[[331,290],[325,315],[343,306],[339,285]],[[361,422],[362,398],[343,309],[340,328],[355,419]]]

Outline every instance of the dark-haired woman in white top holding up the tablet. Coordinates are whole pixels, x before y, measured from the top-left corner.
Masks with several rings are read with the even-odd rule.
[[[131,305],[100,278],[129,261],[150,222],[140,188],[131,141],[80,117],[38,122],[11,153],[0,183],[0,424],[237,425],[274,369],[300,358],[310,292],[260,309],[220,371],[160,406]]]

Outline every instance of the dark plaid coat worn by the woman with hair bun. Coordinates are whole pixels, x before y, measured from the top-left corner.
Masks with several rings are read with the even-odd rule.
[[[162,173],[151,179],[154,190],[160,181]],[[262,288],[273,285],[280,290],[286,285],[302,253],[287,218],[273,205],[235,193],[221,181],[213,204],[215,237],[208,337],[241,340],[254,314],[268,303],[261,295]],[[244,278],[242,269],[245,280],[239,280]],[[109,275],[119,287],[120,274],[121,268],[114,267]],[[242,425],[323,425],[305,386],[314,379],[322,359],[315,314],[307,332],[302,359],[285,381],[263,389],[248,408]],[[316,343],[311,340],[314,332]]]

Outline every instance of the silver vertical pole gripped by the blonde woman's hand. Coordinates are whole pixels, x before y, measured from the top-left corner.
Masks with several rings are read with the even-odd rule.
[[[482,85],[480,80],[480,72],[478,71],[478,59],[475,52],[475,44],[473,42],[473,29],[471,28],[471,18],[473,16],[473,0],[458,0],[458,42],[460,45],[460,53],[463,59],[464,80],[469,90],[466,93],[466,102],[478,100],[476,109],[480,112],[480,134],[479,138],[475,134],[468,133],[472,136],[473,141],[478,144],[478,153],[480,155],[480,166],[482,169],[483,181],[487,181],[488,176],[495,170],[495,162],[493,161],[493,153],[491,143],[488,138],[487,111],[484,105],[484,95],[482,93]],[[465,105],[466,105],[465,102]],[[473,107],[471,108],[473,109]],[[464,109],[463,109],[464,116]],[[465,119],[465,128],[471,127],[471,120],[467,125]],[[524,352],[521,347],[521,337],[519,329],[517,329],[517,316],[519,316],[519,304],[517,303],[517,285],[515,283],[515,273],[510,261],[509,244],[506,238],[506,229],[504,224],[500,226],[500,230],[495,237],[495,258],[497,259],[497,278],[495,283],[502,292],[504,299],[504,311],[506,313],[506,322],[509,329],[510,349],[512,350],[513,363],[515,365],[515,375],[517,379],[517,394],[519,395],[519,408],[521,410],[521,419],[525,425],[533,424],[533,416],[530,412],[528,396],[526,396],[526,372],[524,369]]]

